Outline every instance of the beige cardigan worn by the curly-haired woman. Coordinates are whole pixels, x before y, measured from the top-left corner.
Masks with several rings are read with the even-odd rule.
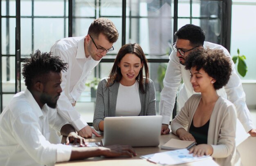
[[[192,95],[171,122],[171,131],[178,128],[188,130],[201,94]],[[219,97],[210,117],[207,144],[213,147],[211,157],[221,166],[232,166],[236,157],[236,108],[234,104]]]

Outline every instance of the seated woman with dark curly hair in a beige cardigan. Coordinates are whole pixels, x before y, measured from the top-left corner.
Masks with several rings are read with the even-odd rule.
[[[211,155],[221,166],[234,165],[236,157],[236,108],[217,90],[231,75],[229,57],[220,49],[198,49],[185,61],[190,82],[198,94],[192,95],[171,122],[171,131],[182,140],[193,140],[194,156]]]

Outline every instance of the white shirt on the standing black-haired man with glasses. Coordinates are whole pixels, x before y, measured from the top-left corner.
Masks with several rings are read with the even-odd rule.
[[[204,42],[204,48],[205,47],[209,47],[211,49],[222,49],[227,56],[231,57],[227,49],[221,45]],[[184,83],[177,96],[179,110],[184,106],[186,100],[195,93],[190,83],[190,72],[185,69],[184,65],[180,64],[179,58],[176,55],[177,52],[171,52],[163,81],[164,89],[161,92],[160,99],[160,115],[163,116],[163,124],[169,124],[170,122],[176,93],[180,86],[181,79]],[[238,119],[243,124],[245,131],[248,132],[254,128],[254,124],[252,123],[250,112],[245,103],[245,92],[243,91],[241,80],[236,73],[234,62],[231,58],[230,60],[232,63],[232,72],[229,82],[222,89],[219,89],[217,93],[223,98],[227,98],[236,106]]]

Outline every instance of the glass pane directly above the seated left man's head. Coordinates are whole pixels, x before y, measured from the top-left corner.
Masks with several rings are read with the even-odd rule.
[[[64,38],[63,18],[34,19],[34,51],[49,52],[52,44]]]

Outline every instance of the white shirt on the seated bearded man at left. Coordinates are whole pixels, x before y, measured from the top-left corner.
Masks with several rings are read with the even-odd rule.
[[[26,89],[14,95],[0,116],[0,165],[42,166],[68,161],[71,146],[51,144],[49,126],[60,131],[66,121],[46,104],[40,109]]]

